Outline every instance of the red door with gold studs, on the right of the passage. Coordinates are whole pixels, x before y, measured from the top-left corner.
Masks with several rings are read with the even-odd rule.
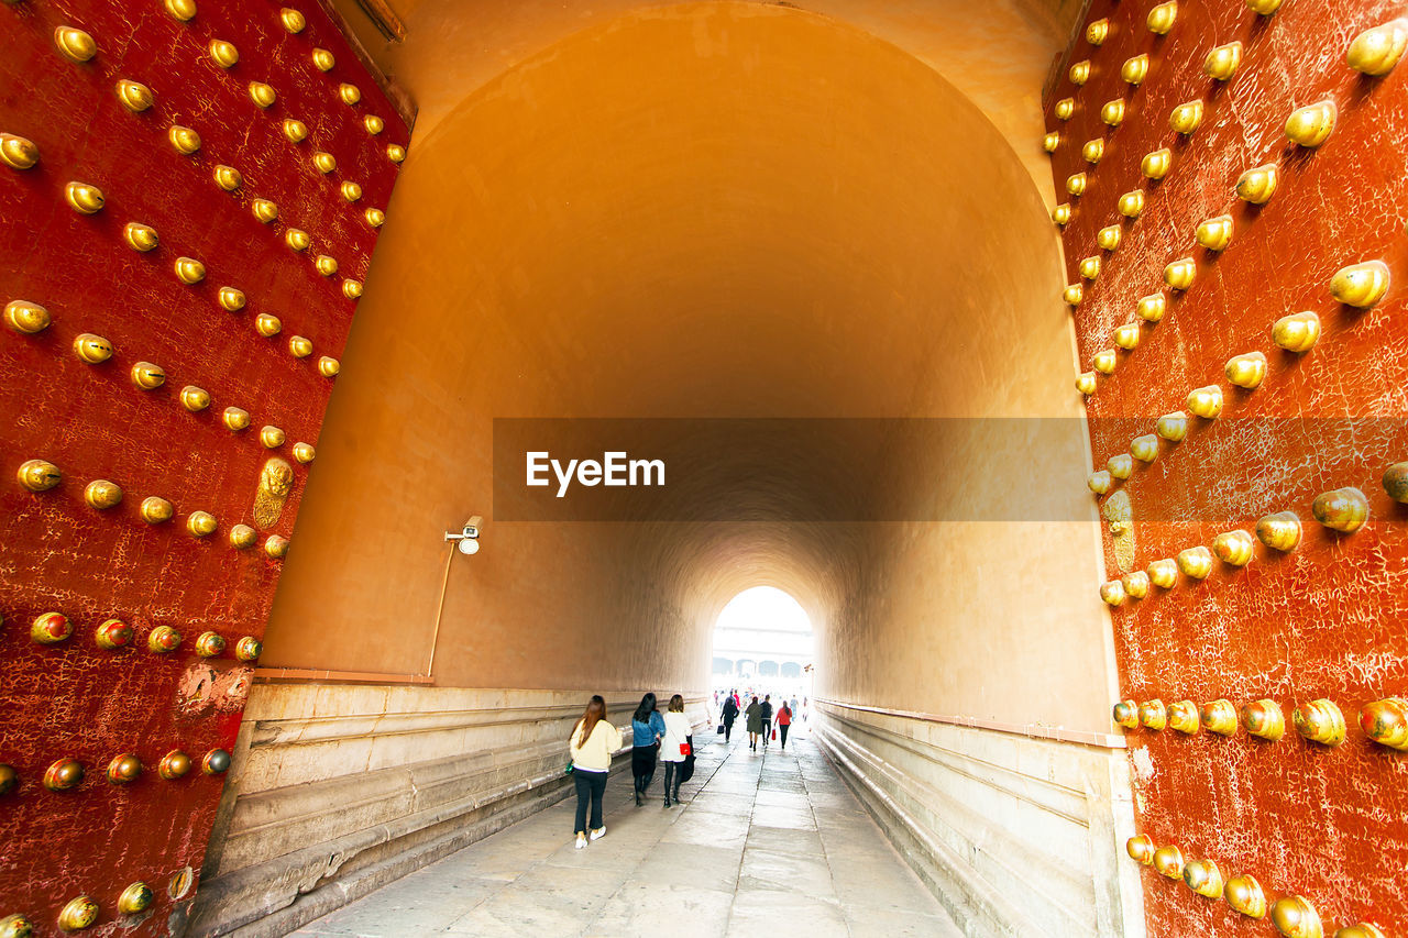
[[[1152,935],[1408,932],[1405,14],[1097,0],[1050,94]]]

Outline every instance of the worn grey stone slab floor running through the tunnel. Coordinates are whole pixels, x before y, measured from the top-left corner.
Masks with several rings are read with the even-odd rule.
[[[742,741],[739,739],[742,735]],[[576,799],[294,932],[306,938],[580,935],[950,938],[962,932],[803,735],[787,752],[701,746],[684,804],[607,783],[607,835],[572,838]]]

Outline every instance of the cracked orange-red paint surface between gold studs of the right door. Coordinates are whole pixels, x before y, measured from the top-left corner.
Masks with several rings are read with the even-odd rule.
[[[1062,200],[1070,173],[1090,177],[1086,194],[1070,200],[1069,282],[1081,258],[1105,258],[1074,311],[1080,370],[1114,346],[1115,327],[1139,321],[1135,303],[1163,287],[1166,263],[1198,263],[1194,284],[1169,294],[1163,321],[1142,325],[1139,346],[1121,351],[1114,375],[1100,379],[1090,399],[1095,468],[1152,432],[1160,414],[1184,410],[1190,390],[1219,384],[1222,415],[1190,418],[1187,439],[1163,442],[1159,459],[1136,463],[1122,484],[1133,503],[1135,569],[1222,531],[1250,531],[1274,511],[1295,511],[1304,538],[1286,555],[1257,544],[1246,568],[1218,563],[1201,583],[1181,577],[1114,611],[1124,696],[1166,704],[1226,697],[1239,708],[1270,697],[1287,718],[1280,742],[1245,731],[1129,732],[1139,828],[1188,859],[1217,861],[1224,876],[1256,876],[1271,900],[1307,896],[1326,934],[1360,920],[1401,934],[1408,766],[1369,742],[1356,717],[1369,700],[1408,693],[1408,507],[1378,482],[1408,459],[1408,66],[1367,79],[1346,66],[1345,49],[1359,31],[1401,15],[1402,4],[1286,3],[1259,17],[1243,3],[1188,1],[1166,38],[1148,31],[1146,13],[1148,4],[1097,0],[1090,18],[1110,17],[1111,38],[1100,48],[1074,42],[1069,59],[1090,58],[1091,77],[1081,89],[1063,77],[1052,93],[1076,97],[1074,117],[1057,121],[1048,107],[1048,127],[1062,132],[1052,161]],[[1207,77],[1207,54],[1235,39],[1245,44],[1238,75],[1225,85]],[[1139,52],[1150,56],[1149,77],[1132,87],[1119,66]],[[1108,128],[1098,111],[1115,97],[1126,100],[1128,115]],[[1331,139],[1318,151],[1291,145],[1287,115],[1325,97],[1339,106]],[[1202,100],[1207,113],[1184,138],[1169,128],[1169,114],[1188,100]],[[1105,156],[1090,166],[1080,148],[1095,137],[1107,141]],[[1173,149],[1173,169],[1152,183],[1139,161],[1162,146]],[[1281,170],[1270,203],[1239,201],[1238,176],[1269,162]],[[1145,190],[1146,208],[1122,221],[1115,252],[1101,252],[1095,232],[1121,223],[1115,201],[1131,189]],[[1231,245],[1198,248],[1197,224],[1224,213],[1233,218]],[[1331,275],[1369,259],[1393,269],[1390,293],[1370,310],[1335,303]],[[1270,330],[1301,310],[1316,311],[1324,332],[1298,356],[1278,349]],[[1253,351],[1267,356],[1266,380],[1233,387],[1225,362]],[[1385,420],[1304,420],[1366,417]],[[1309,511],[1316,494],[1340,486],[1370,500],[1367,527],[1352,535],[1322,528]],[[1119,576],[1108,532],[1105,546],[1107,575]],[[1291,728],[1297,703],[1316,697],[1345,711],[1345,745],[1311,745]],[[1153,870],[1143,883],[1150,935],[1252,938],[1270,930]]]

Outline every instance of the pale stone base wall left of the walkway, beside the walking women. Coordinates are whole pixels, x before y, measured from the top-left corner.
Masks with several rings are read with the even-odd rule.
[[[567,735],[589,696],[258,686],[187,938],[289,934],[567,797]],[[639,700],[607,696],[611,721],[628,727]],[[689,714],[708,724],[703,697]]]

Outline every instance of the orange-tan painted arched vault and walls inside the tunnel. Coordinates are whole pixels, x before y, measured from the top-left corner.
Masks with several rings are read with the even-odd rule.
[[[263,663],[422,668],[441,535],[482,513],[441,684],[700,687],[714,615],[773,583],[818,623],[834,697],[1107,730],[1059,259],[994,125],[859,30],[707,3],[573,35],[413,145]],[[510,415],[1070,423],[1059,452],[980,431],[852,490],[760,466],[753,523],[546,525],[491,520],[490,420]],[[935,476],[1083,521],[787,524],[914,511]]]

